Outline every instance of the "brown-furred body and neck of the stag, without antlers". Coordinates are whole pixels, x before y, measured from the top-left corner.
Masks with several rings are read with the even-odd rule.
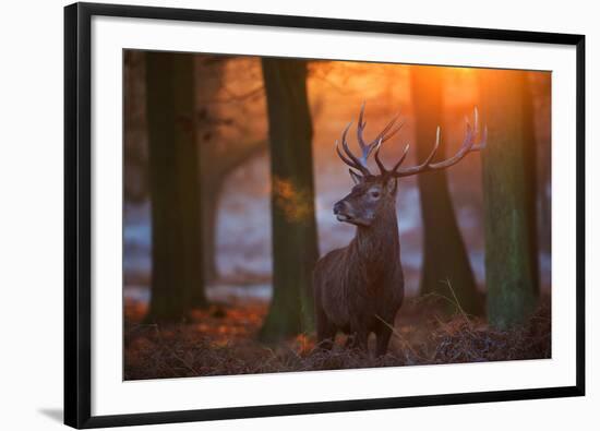
[[[317,340],[331,348],[337,332],[353,336],[367,350],[375,333],[376,354],[387,351],[394,320],[404,299],[404,275],[395,205],[395,180],[386,187],[381,177],[358,184],[340,203],[360,203],[373,184],[381,185],[381,201],[369,226],[357,225],[356,237],[345,248],[323,256],[314,270]],[[388,190],[389,189],[389,190]],[[382,320],[384,322],[382,322]]]

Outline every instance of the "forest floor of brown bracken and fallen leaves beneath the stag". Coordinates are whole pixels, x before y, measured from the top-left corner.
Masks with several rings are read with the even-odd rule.
[[[267,304],[218,304],[194,311],[185,323],[141,323],[144,302],[125,302],[124,379],[160,379],[289,371],[338,370],[502,360],[551,356],[549,298],[521,326],[495,331],[485,322],[455,314],[442,318],[435,301],[408,299],[398,312],[388,352],[343,347],[338,336],[331,351],[315,348],[314,337],[276,346],[256,340]]]

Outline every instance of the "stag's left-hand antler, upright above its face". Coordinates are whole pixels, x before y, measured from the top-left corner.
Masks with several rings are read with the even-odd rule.
[[[387,123],[385,128],[383,128],[381,133],[371,143],[367,144],[362,136],[362,132],[367,127],[367,122],[363,121],[363,117],[364,117],[364,103],[360,108],[358,125],[357,125],[357,140],[361,149],[361,156],[360,157],[355,156],[350,151],[350,148],[348,147],[348,142],[346,141],[346,135],[348,134],[348,130],[350,129],[350,125],[352,125],[351,121],[348,123],[348,125],[346,127],[346,129],[344,129],[344,132],[341,133],[341,146],[344,147],[344,152],[346,153],[347,157],[344,156],[344,154],[341,154],[341,151],[339,149],[339,145],[337,141],[335,142],[335,149],[337,152],[337,155],[341,159],[341,161],[344,161],[346,165],[350,166],[351,168],[359,170],[363,176],[370,176],[371,172],[367,167],[367,159],[369,158],[373,149],[375,149],[375,147],[377,147],[377,151],[379,151],[379,146],[385,141],[387,141],[388,139],[391,139],[394,134],[396,134],[398,130],[400,130],[403,124],[400,123],[395,129],[391,130],[396,123],[396,121],[398,120],[398,116],[396,116],[395,118],[392,119],[392,121]],[[380,161],[377,161],[377,165],[380,165]]]

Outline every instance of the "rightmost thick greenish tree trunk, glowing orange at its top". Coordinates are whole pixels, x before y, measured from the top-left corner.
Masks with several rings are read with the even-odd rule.
[[[535,306],[537,253],[536,160],[527,109],[526,72],[482,71],[488,147],[483,160],[483,213],[488,319],[497,328],[521,323]]]

